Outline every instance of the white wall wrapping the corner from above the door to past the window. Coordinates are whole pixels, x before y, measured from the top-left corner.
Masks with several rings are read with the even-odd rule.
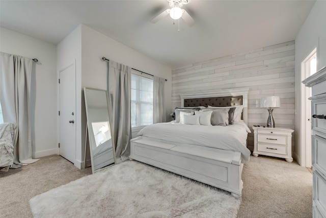
[[[83,166],[85,151],[86,112],[84,87],[106,89],[107,62],[101,58],[131,66],[168,79],[166,83],[167,116],[171,109],[172,69],[85,25],[79,25],[58,44],[58,70],[76,61],[76,161]]]

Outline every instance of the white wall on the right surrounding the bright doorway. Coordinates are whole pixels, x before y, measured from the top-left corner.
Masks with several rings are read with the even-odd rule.
[[[317,69],[326,65],[326,1],[316,1],[310,11],[305,23],[301,27],[295,38],[295,155],[296,160],[300,163],[302,155],[302,137],[304,137],[304,124],[300,120],[304,117],[301,111],[301,103],[305,101],[304,85],[305,79],[301,75],[302,61],[317,48]]]

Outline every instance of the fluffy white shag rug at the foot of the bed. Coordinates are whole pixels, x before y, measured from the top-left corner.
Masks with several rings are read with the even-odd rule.
[[[227,191],[125,161],[30,200],[34,217],[236,217]]]

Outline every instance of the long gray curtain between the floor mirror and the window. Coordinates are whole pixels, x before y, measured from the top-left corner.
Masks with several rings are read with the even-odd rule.
[[[122,161],[130,155],[131,139],[131,67],[108,62],[107,91],[110,107],[112,136],[116,158]]]

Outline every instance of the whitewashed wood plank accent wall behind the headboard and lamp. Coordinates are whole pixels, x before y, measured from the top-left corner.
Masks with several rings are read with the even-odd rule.
[[[248,126],[266,126],[268,111],[259,107],[263,96],[278,95],[281,108],[273,112],[277,127],[294,129],[294,41],[262,47],[172,69],[172,107],[180,94],[249,87]],[[292,152],[294,151],[292,134]],[[253,149],[254,135],[248,136]]]

